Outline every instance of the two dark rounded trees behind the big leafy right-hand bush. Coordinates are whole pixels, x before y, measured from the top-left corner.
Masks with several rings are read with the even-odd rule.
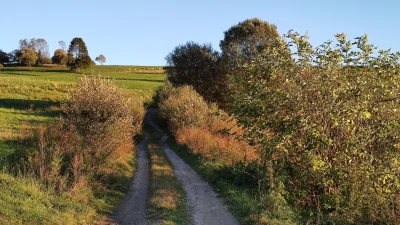
[[[176,86],[191,85],[207,102],[227,109],[235,84],[229,74],[237,74],[279,37],[273,24],[258,18],[247,19],[225,31],[220,42],[222,53],[211,44],[187,42],[167,57],[168,80]]]

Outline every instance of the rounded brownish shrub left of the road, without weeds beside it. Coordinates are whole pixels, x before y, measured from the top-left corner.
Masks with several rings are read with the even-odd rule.
[[[84,164],[97,173],[109,155],[139,131],[143,109],[126,98],[113,80],[83,77],[69,94],[64,128],[76,132]]]

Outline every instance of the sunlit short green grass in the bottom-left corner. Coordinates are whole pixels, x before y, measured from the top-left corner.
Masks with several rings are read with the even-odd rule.
[[[0,174],[0,224],[91,224],[98,214],[69,193],[55,193],[34,179]]]

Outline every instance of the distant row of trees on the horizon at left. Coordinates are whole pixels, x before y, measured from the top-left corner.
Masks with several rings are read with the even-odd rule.
[[[58,43],[59,48],[50,57],[49,45],[45,39],[20,40],[18,49],[9,53],[0,50],[0,64],[21,64],[25,66],[57,64],[61,67],[68,66],[74,71],[86,69],[95,64],[90,58],[86,43],[82,38],[72,39],[68,50],[64,41]],[[95,60],[103,65],[106,62],[106,57],[101,54]]]

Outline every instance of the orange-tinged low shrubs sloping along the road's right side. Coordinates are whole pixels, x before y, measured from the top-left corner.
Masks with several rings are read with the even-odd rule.
[[[192,153],[225,165],[257,159],[256,150],[241,140],[236,120],[216,105],[209,105],[191,86],[166,84],[157,92],[159,113],[168,121],[179,144]]]

